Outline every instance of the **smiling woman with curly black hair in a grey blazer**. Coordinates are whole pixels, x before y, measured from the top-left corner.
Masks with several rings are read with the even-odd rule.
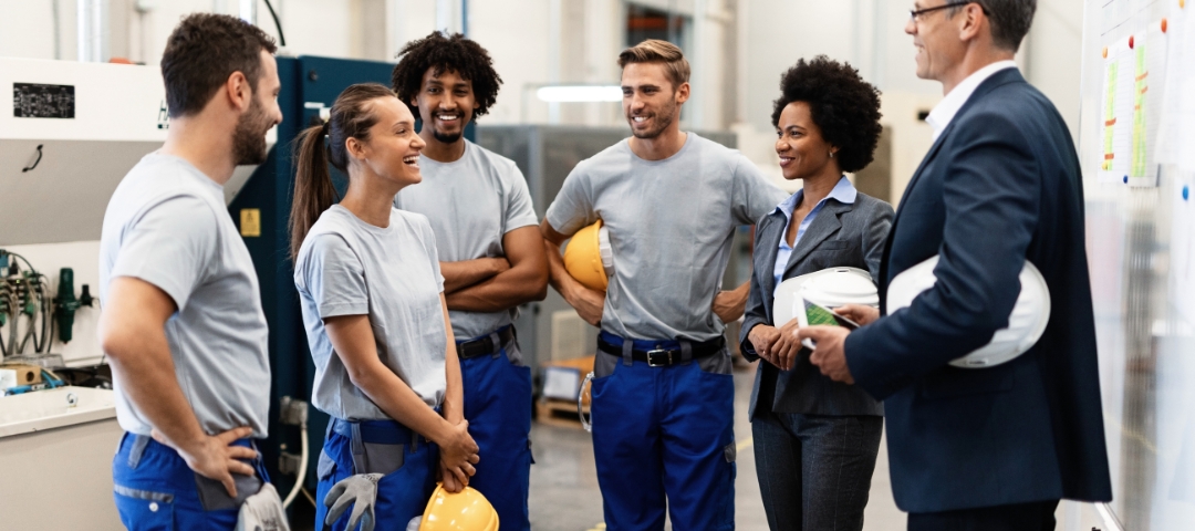
[[[772,124],[784,178],[802,189],[756,225],[742,325],[748,360],[762,359],[752,391],[755,470],[772,530],[862,530],[880,451],[883,407],[809,362],[772,304],[785,279],[852,267],[880,276],[890,205],[858,193],[844,172],[872,160],[880,91],[848,65],[799,60],[780,79]]]

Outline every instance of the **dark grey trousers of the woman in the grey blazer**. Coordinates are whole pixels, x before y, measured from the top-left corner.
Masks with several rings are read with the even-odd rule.
[[[767,525],[862,530],[883,417],[758,413],[755,474]]]

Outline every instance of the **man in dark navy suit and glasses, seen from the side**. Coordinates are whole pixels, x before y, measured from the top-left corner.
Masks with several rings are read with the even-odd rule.
[[[881,301],[939,256],[937,283],[853,332],[798,331],[811,361],[884,401],[893,494],[909,530],[1053,529],[1062,498],[1108,501],[1083,184],[1066,124],[1011,61],[1034,0],[918,0],[918,75],[942,83],[934,144],[900,202]],[[1052,299],[1037,343],[1006,364],[949,366],[1009,325],[1032,262]]]

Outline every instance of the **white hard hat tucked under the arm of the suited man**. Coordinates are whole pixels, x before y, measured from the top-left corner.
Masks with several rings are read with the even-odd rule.
[[[893,279],[888,286],[888,313],[891,315],[902,307],[913,304],[913,299],[921,292],[933,287],[938,281],[933,276],[933,268],[938,264],[934,256],[912,268],[908,268]],[[955,367],[983,368],[992,367],[1010,361],[1041,338],[1049,323],[1049,287],[1041,271],[1028,260],[1021,269],[1021,294],[1017,304],[1009,315],[1009,328],[995,331],[983,347],[958,358],[950,362]]]

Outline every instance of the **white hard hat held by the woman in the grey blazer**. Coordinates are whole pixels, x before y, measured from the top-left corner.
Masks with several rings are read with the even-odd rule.
[[[844,304],[880,306],[880,294],[868,271],[858,268],[822,269],[780,282],[772,304],[772,318],[777,326],[793,318],[801,319],[802,326],[808,325],[802,319],[805,315],[802,299],[831,309]]]

